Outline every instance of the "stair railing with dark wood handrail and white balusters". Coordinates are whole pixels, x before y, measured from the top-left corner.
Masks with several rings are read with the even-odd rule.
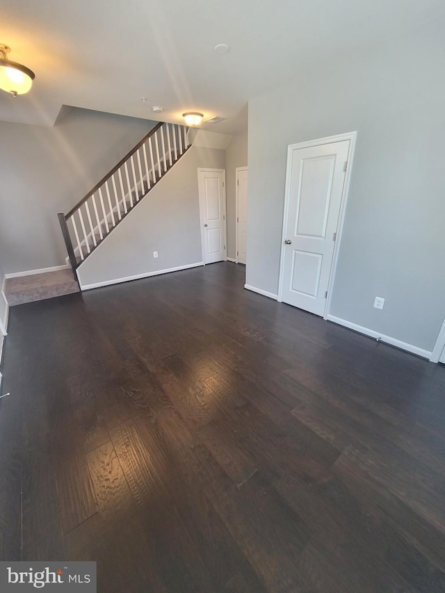
[[[58,219],[73,272],[190,148],[188,127],[160,122]]]

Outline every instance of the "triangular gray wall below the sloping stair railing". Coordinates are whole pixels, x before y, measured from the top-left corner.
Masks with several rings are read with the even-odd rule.
[[[225,151],[191,147],[80,266],[84,286],[202,261],[198,167],[224,169]]]

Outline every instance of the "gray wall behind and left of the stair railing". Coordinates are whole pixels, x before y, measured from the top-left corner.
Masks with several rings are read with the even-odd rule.
[[[6,273],[65,263],[69,211],[156,122],[63,108],[52,128],[0,122],[0,253]]]

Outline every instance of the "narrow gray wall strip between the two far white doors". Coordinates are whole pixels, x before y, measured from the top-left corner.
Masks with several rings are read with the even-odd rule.
[[[225,181],[227,200],[227,256],[236,258],[236,167],[248,164],[248,133],[232,137],[225,152]]]

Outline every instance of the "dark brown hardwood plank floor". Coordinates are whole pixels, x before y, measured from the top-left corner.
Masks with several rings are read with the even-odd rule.
[[[445,591],[445,367],[218,263],[10,311],[1,560],[99,592]]]

